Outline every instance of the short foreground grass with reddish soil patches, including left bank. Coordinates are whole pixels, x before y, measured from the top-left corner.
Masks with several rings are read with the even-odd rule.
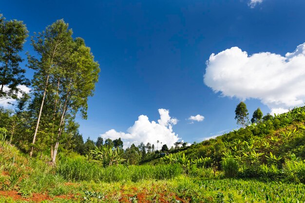
[[[297,202],[305,201],[305,185],[265,183],[256,180],[221,179],[211,170],[194,175],[178,175],[169,180],[138,182],[67,182],[40,160],[28,160],[12,146],[0,150],[1,203],[74,203],[86,202]],[[14,176],[17,176],[17,180]],[[16,180],[16,181],[14,181]],[[4,191],[17,191],[5,195]],[[83,191],[94,191],[84,194]],[[12,196],[12,194],[15,194]],[[44,194],[44,195],[43,195]],[[22,196],[21,196],[22,195]],[[60,196],[58,196],[60,195]],[[101,196],[101,199],[97,196]],[[16,199],[17,198],[17,199]]]

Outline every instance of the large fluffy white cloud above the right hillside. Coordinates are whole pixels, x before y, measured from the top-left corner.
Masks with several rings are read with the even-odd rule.
[[[248,55],[232,47],[207,61],[204,83],[224,96],[260,99],[271,112],[285,112],[305,103],[305,43],[285,56]]]

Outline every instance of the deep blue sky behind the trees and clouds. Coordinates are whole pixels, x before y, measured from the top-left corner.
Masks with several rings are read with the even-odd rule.
[[[236,129],[234,110],[242,99],[246,99],[249,117],[258,107],[266,114],[273,108],[285,110],[294,104],[304,104],[305,96],[299,90],[303,87],[301,81],[305,79],[302,77],[304,66],[291,62],[293,68],[290,70],[298,70],[301,75],[291,86],[298,91],[293,95],[279,92],[272,98],[268,97],[269,92],[264,92],[265,86],[259,86],[268,80],[262,75],[269,69],[255,71],[255,68],[267,63],[277,71],[277,61],[288,60],[277,56],[284,57],[305,42],[305,1],[259,0],[253,8],[249,1],[4,0],[0,13],[7,19],[23,20],[30,35],[63,18],[73,29],[73,36],[84,38],[87,46],[91,47],[101,72],[95,95],[89,99],[88,120],[77,117],[84,139],[90,136],[95,140],[100,134],[106,136],[110,129],[130,136],[136,133],[133,124],[138,116],[146,115],[150,122],[157,122],[160,119],[158,110],[165,109],[169,110],[171,117],[179,120],[163,125],[172,128],[166,136],[174,133],[174,136],[192,143]],[[246,51],[248,58],[262,52],[277,56],[257,55],[257,58],[240,65],[240,69],[234,69],[234,60],[217,55],[231,47]],[[24,50],[33,53],[29,38]],[[210,60],[213,73],[207,75],[210,77],[207,86],[203,76],[212,53],[217,57],[213,62]],[[237,49],[224,52],[226,54],[228,57],[236,56],[236,61],[242,61],[244,57]],[[249,79],[243,82],[251,81],[258,85],[253,85],[255,90],[262,91],[248,94],[249,89],[239,87],[249,84],[232,85],[243,77],[244,66],[254,67],[254,71],[246,71],[244,76]],[[215,79],[222,75],[222,67],[227,67],[227,71],[232,68],[228,73],[236,74]],[[285,72],[285,67],[283,70],[282,76],[275,77],[277,81],[283,75],[291,75]],[[261,80],[251,79],[256,72],[259,72],[257,77]],[[29,78],[32,74],[30,70],[27,72]],[[272,74],[267,75],[272,77]],[[292,77],[286,84],[290,84],[292,79],[296,80]],[[270,83],[266,85],[270,86]],[[284,99],[294,96],[298,102]],[[188,118],[197,114],[205,119],[191,124]],[[128,131],[132,126],[134,128]],[[143,136],[154,135],[145,135],[142,130],[132,137]]]

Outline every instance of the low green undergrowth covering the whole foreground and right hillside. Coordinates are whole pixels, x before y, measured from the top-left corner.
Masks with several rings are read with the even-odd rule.
[[[153,165],[105,167],[70,153],[53,167],[47,158],[29,158],[1,141],[0,202],[39,202],[33,199],[38,194],[47,195],[44,203],[304,202],[304,112],[265,117]],[[9,191],[20,198],[5,195]]]

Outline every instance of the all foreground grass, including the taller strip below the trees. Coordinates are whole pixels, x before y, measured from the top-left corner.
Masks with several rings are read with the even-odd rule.
[[[272,168],[265,169],[270,173]],[[224,172],[214,175],[212,168],[194,166],[188,168],[187,174],[179,165],[101,167],[80,156],[61,158],[57,168],[52,168],[45,160],[29,159],[15,147],[4,145],[0,150],[0,190],[16,190],[28,198],[35,193],[54,198],[42,203],[118,203],[122,198],[137,202],[140,194],[154,203],[178,203],[181,199],[186,203],[305,202],[304,162],[288,161],[283,171],[291,173],[287,178],[294,183],[226,179]],[[60,199],[57,195],[75,199]],[[25,201],[0,196],[0,203]]]

